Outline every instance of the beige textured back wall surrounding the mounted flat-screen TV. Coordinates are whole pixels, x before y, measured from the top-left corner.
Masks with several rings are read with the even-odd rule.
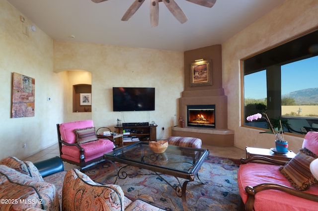
[[[71,69],[92,73],[95,127],[114,130],[117,118],[122,122],[155,121],[157,138],[170,136],[179,113],[177,99],[184,88],[183,52],[54,41],[54,71]],[[155,87],[155,111],[113,112],[112,87]]]

